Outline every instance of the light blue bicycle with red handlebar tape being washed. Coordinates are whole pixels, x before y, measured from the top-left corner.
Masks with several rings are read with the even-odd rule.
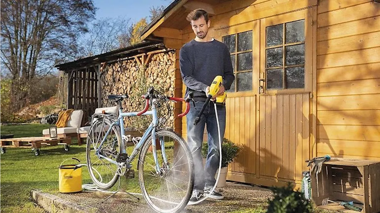
[[[109,95],[108,99],[114,100],[119,106],[117,118],[115,114],[109,113],[93,115],[86,145],[90,177],[98,188],[107,190],[114,186],[120,176],[127,174],[132,167],[131,163],[140,152],[137,169],[142,196],[156,212],[179,212],[187,205],[193,190],[192,153],[182,136],[172,129],[157,128],[159,119],[156,106],[160,101],[184,101],[186,111],[178,115],[182,117],[190,110],[190,100],[194,100],[192,97],[163,96],[153,87],[142,97],[146,100],[146,105],[140,112],[123,113],[121,102],[128,96]],[[148,111],[149,106],[151,111]],[[131,155],[128,155],[123,117],[141,115],[152,115],[152,122],[135,144]],[[156,149],[157,142],[161,149]],[[150,147],[151,152],[148,151]],[[165,181],[166,184],[157,187],[161,183],[157,179]],[[163,191],[166,189],[168,194],[164,195]]]

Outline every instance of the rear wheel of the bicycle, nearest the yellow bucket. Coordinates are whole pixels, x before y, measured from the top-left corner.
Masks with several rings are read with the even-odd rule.
[[[111,124],[112,121],[108,118],[99,118],[92,125],[87,136],[87,167],[93,183],[103,190],[111,188],[119,178],[117,165],[98,155],[100,154],[116,161],[117,155],[121,151],[121,138],[116,126],[112,127],[100,147],[101,141],[105,138]]]

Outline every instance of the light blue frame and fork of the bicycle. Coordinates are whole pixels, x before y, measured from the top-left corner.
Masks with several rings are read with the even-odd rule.
[[[133,149],[132,154],[130,156],[128,156],[129,158],[125,162],[125,164],[127,166],[130,165],[130,163],[133,161],[133,159],[136,157],[137,153],[139,152],[141,146],[144,144],[144,142],[146,141],[146,139],[149,137],[149,134],[151,134],[152,135],[153,157],[154,157],[154,161],[156,163],[155,169],[156,169],[157,174],[159,174],[160,173],[160,166],[158,165],[156,143],[155,143],[155,141],[156,141],[155,134],[156,134],[156,128],[157,128],[157,125],[158,125],[158,117],[157,117],[157,110],[155,108],[154,101],[155,100],[152,101],[152,110],[151,111],[146,111],[144,114],[142,114],[142,115],[153,115],[153,120],[150,123],[149,127],[146,129],[144,135],[142,135],[142,138],[139,141],[139,143],[136,144],[135,149]],[[122,147],[121,147],[120,152],[121,153],[127,153],[127,150],[125,149],[125,144],[124,144],[124,141],[123,141],[123,138],[125,137],[123,117],[138,116],[137,114],[138,114],[138,112],[123,113],[122,110],[119,108],[119,116],[117,117],[117,120],[114,121],[114,122],[112,122],[111,126],[108,128],[108,131],[106,132],[106,135],[103,137],[103,139],[102,139],[99,147],[97,148],[97,150],[95,152],[98,157],[104,158],[104,159],[106,159],[106,160],[108,160],[111,163],[114,163],[116,165],[119,164],[115,160],[112,160],[112,159],[110,159],[110,158],[108,158],[108,157],[106,157],[104,155],[101,155],[99,153],[99,150],[103,146],[103,143],[105,142],[108,134],[111,132],[112,127],[115,124],[120,124],[120,136],[121,136],[121,141],[122,141]],[[115,146],[116,143],[117,143],[117,140],[114,141],[114,144],[112,146]],[[168,160],[166,159],[165,144],[164,144],[164,140],[162,138],[160,139],[160,145],[161,145],[161,151],[162,151],[163,161],[164,161],[165,165],[167,165],[168,164]]]

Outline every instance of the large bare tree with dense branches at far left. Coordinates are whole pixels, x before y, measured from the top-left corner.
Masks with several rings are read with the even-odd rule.
[[[54,63],[73,60],[95,16],[92,0],[0,0],[0,63],[11,74],[11,103],[30,102],[30,84]]]

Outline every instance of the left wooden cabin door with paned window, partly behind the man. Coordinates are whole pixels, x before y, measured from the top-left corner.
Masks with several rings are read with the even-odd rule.
[[[235,81],[227,93],[225,138],[241,146],[229,165],[230,180],[249,182],[257,168],[256,100],[260,58],[259,22],[248,22],[215,32],[230,49]]]

